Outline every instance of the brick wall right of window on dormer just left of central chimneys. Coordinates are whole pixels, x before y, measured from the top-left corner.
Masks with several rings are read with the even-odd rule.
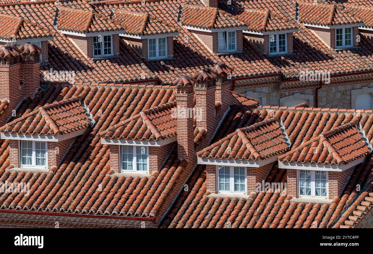
[[[159,171],[166,158],[170,155],[175,142],[160,147],[149,147],[149,174]]]

